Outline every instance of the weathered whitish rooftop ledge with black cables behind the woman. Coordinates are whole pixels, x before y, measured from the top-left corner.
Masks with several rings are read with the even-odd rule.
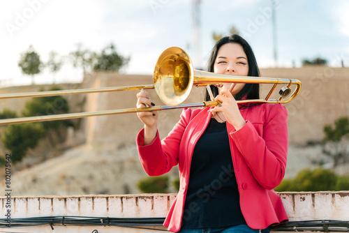
[[[349,191],[339,192],[283,192],[279,193],[290,223],[310,221],[321,223],[345,223],[349,231]],[[34,197],[0,197],[0,226],[5,232],[158,232],[175,194],[139,194],[139,195],[77,195],[77,196],[34,196]],[[8,218],[10,216],[10,219]],[[23,218],[33,220],[51,217],[52,225],[18,227]],[[54,218],[57,217],[57,218]],[[64,217],[64,218],[63,218]],[[72,219],[89,217],[98,220],[96,224],[77,226]],[[119,224],[124,218],[129,224]],[[137,219],[151,219],[151,223],[140,224]],[[54,219],[60,219],[57,224]],[[107,221],[117,220],[111,226]],[[6,222],[10,220],[10,223]],[[66,224],[64,223],[66,220]],[[104,221],[104,222],[103,222]],[[133,224],[131,224],[131,222]],[[35,221],[34,221],[35,222]],[[75,223],[75,224],[73,224]],[[305,223],[305,222],[304,222]],[[308,222],[309,223],[309,222]],[[109,225],[108,225],[109,224]],[[104,226],[103,226],[104,225]],[[115,226],[117,225],[117,226]],[[328,224],[326,224],[328,226]],[[329,224],[331,225],[331,224]],[[147,230],[146,227],[156,230]],[[299,230],[299,226],[293,230]],[[53,231],[54,229],[54,231]],[[281,232],[277,228],[272,229]],[[344,229],[345,230],[345,229]],[[322,230],[325,231],[325,230]],[[0,232],[2,232],[0,230]]]

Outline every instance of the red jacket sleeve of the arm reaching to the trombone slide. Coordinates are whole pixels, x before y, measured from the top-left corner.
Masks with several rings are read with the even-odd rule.
[[[162,141],[158,133],[154,141],[144,146],[144,128],[138,133],[136,143],[140,163],[149,176],[160,176],[178,164],[179,144],[188,121],[191,118],[191,109],[186,108],[181,113],[181,119]]]

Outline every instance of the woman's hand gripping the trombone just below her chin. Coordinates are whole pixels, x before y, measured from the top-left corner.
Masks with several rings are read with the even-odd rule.
[[[220,105],[217,105],[210,112],[223,112],[225,119],[235,127],[236,130],[242,128],[246,121],[242,117],[237,106],[237,101],[228,89],[221,89],[221,94],[216,96],[214,100],[219,100]]]

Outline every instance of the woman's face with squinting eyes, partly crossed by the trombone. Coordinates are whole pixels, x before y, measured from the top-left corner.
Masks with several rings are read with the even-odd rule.
[[[217,53],[216,61],[214,61],[214,73],[223,75],[248,75],[247,56],[242,45],[237,43],[227,43],[222,45]],[[232,84],[225,83],[223,87],[229,89]],[[235,96],[245,86],[244,83],[238,83],[232,90]],[[221,91],[221,88],[218,87]]]

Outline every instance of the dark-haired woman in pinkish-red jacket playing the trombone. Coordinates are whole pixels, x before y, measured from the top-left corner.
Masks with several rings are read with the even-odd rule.
[[[251,47],[237,35],[216,43],[208,71],[259,76]],[[162,141],[158,114],[138,113],[144,123],[138,152],[147,174],[179,165],[179,193],[164,223],[172,232],[269,232],[270,225],[288,220],[273,190],[285,174],[287,111],[281,104],[237,104],[259,98],[259,84],[230,87],[211,86],[221,105],[184,109]],[[154,105],[148,93],[137,96],[138,107]]]

